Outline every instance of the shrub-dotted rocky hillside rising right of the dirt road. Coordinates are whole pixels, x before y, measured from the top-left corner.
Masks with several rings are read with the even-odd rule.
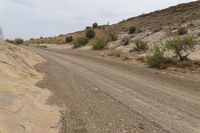
[[[30,39],[25,43],[73,44],[73,48],[89,45],[93,50],[108,49],[111,51],[108,56],[117,53],[117,57],[121,57],[119,54],[128,53],[150,67],[166,68],[181,64],[195,66],[196,69],[199,68],[196,60],[200,60],[199,12],[200,1],[195,1],[142,14],[113,25],[99,26],[94,23],[83,31]]]

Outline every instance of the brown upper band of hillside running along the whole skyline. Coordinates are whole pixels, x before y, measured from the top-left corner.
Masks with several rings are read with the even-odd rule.
[[[184,3],[177,6],[169,7],[164,10],[155,11],[148,14],[143,14],[138,17],[129,18],[123,20],[117,24],[110,26],[100,26],[95,28],[95,32],[98,36],[101,36],[105,32],[126,32],[129,27],[135,26],[141,32],[147,30],[156,32],[161,30],[174,30],[181,27],[183,24],[187,26],[194,26],[192,22],[200,19],[200,1],[191,3]],[[27,43],[53,43],[53,44],[64,44],[66,36],[73,36],[77,38],[83,36],[86,30],[70,33],[66,35],[59,35],[56,37],[30,39]]]

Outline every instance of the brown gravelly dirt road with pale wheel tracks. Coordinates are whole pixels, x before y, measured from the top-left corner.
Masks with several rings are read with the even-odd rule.
[[[63,133],[200,133],[200,79],[31,48],[48,60],[40,87],[59,104]]]

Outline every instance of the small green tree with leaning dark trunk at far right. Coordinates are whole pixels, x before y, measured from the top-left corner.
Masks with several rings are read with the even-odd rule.
[[[181,61],[187,59],[190,52],[195,49],[195,45],[198,42],[195,37],[176,37],[172,40],[166,42],[166,48],[172,50],[176,58],[179,58]]]

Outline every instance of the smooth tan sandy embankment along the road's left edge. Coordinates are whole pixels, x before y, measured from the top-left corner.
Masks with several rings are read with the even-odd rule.
[[[55,133],[57,107],[45,104],[50,92],[34,84],[43,79],[33,66],[37,54],[0,41],[0,133]]]

